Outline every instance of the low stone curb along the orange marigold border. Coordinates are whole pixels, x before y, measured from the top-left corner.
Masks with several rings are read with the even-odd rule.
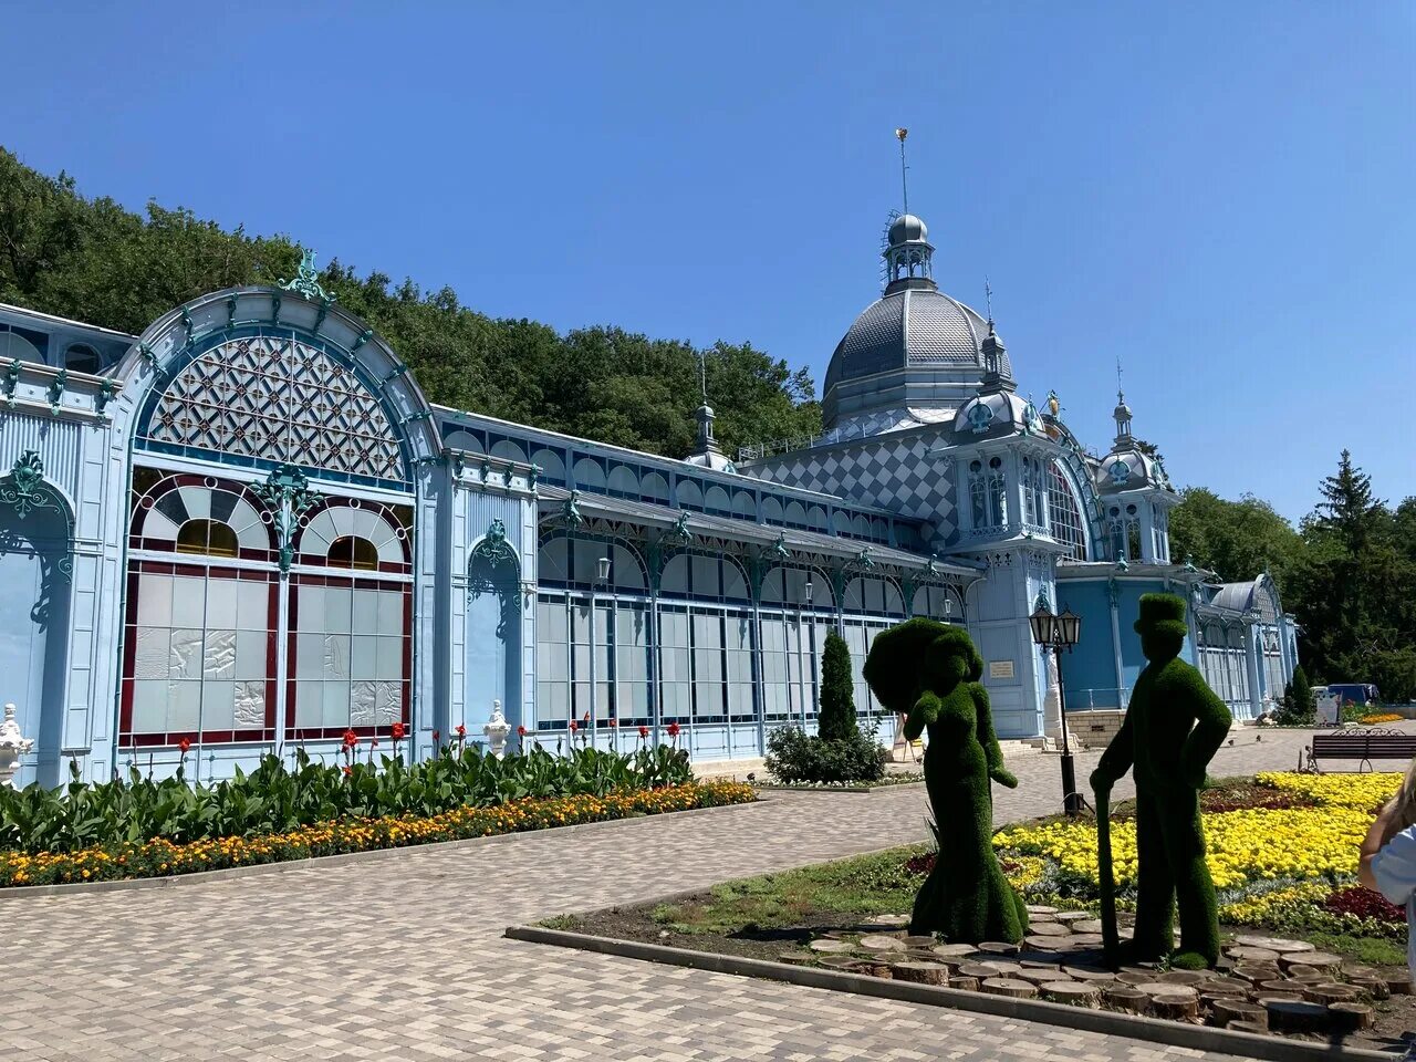
[[[228,878],[248,878],[262,874],[283,874],[289,871],[319,869],[323,867],[338,867],[346,862],[374,862],[394,855],[419,851],[455,851],[460,848],[483,848],[496,844],[515,844],[532,837],[554,835],[561,837],[568,833],[603,830],[606,827],[639,823],[644,818],[670,818],[675,816],[700,816],[714,811],[738,811],[755,804],[763,804],[772,797],[759,796],[745,804],[718,804],[716,807],[690,807],[683,811],[660,811],[657,814],[626,816],[623,818],[602,818],[596,823],[572,823],[569,826],[552,826],[542,830],[517,830],[508,834],[493,834],[491,837],[463,837],[456,841],[432,841],[429,844],[401,844],[392,848],[370,848],[362,852],[338,852],[336,855],[312,855],[304,860],[280,860],[278,862],[253,862],[249,867],[221,867],[214,871],[193,871],[191,874],[170,874],[161,878],[119,878],[116,881],[69,881],[55,885],[10,885],[0,888],[0,903],[23,902],[28,899],[45,899],[69,895],[89,895],[95,892],[127,892],[130,889],[169,889],[178,885],[205,885]]]

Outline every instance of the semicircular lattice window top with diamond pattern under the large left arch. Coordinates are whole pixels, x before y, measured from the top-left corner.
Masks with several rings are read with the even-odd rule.
[[[292,338],[228,340],[169,384],[147,426],[156,443],[402,480],[384,408],[348,368]]]

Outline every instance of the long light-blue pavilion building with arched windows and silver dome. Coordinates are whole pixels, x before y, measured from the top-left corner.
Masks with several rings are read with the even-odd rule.
[[[687,460],[430,405],[309,258],[142,336],[0,306],[0,701],[35,739],[18,783],[170,772],[183,742],[188,776],[219,777],[350,729],[388,748],[395,722],[426,756],[459,726],[480,741],[494,702],[551,748],[572,719],[606,748],[678,724],[700,762],[752,759],[814,725],[830,630],[858,674],[922,615],[973,634],[1000,735],[1048,741],[1038,599],[1082,613],[1066,700],[1100,721],[1158,589],[1257,714],[1294,664],[1272,581],[1171,556],[1178,498],[1124,401],[1097,456],[1055,398],[1020,396],[993,321],[935,285],[919,218],[884,256],[823,433],[736,460],[707,396]],[[855,700],[888,742],[860,680]]]

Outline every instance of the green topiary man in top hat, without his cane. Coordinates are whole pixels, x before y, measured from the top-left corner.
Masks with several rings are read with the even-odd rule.
[[[1180,899],[1180,946],[1174,963],[1212,966],[1219,957],[1215,884],[1205,865],[1199,790],[1205,767],[1233,722],[1199,671],[1180,660],[1185,599],[1141,596],[1136,630],[1146,670],[1136,680],[1120,732],[1092,772],[1092,789],[1107,793],[1134,767],[1137,901],[1131,961],[1150,961],[1174,947]]]

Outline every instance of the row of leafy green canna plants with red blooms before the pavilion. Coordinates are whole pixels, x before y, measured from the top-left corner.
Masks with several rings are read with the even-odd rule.
[[[350,756],[353,760],[353,756]],[[617,755],[573,746],[552,756],[538,745],[484,755],[476,746],[445,748],[421,763],[381,756],[381,763],[326,765],[304,752],[295,767],[266,755],[249,775],[190,786],[177,776],[154,782],[137,769],[126,779],[50,790],[0,787],[0,850],[67,852],[92,845],[167,838],[289,833],[314,823],[387,816],[436,816],[460,807],[496,807],[513,800],[681,786],[692,780],[688,753],[660,745]]]

